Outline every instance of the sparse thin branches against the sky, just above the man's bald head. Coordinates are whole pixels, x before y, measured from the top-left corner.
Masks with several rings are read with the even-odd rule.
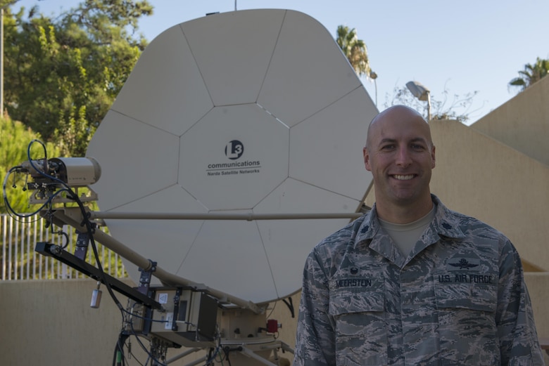
[[[469,109],[473,103],[473,98],[478,91],[467,93],[465,96],[459,96],[454,94],[450,100],[450,93],[445,89],[442,93],[443,100],[437,100],[431,95],[431,119],[454,119],[456,121],[465,123],[469,119]],[[449,103],[449,105],[448,105]],[[406,87],[395,87],[393,90],[393,97],[389,100],[389,96],[385,96],[385,107],[391,107],[391,105],[408,105],[415,110],[421,112],[424,111],[423,117],[427,119],[427,103],[418,100]],[[457,108],[465,110],[464,113],[458,114]]]

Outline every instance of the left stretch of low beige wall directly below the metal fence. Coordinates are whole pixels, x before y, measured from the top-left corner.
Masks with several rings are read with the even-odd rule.
[[[0,282],[0,364],[112,365],[120,311],[106,294],[90,308],[95,287],[92,280]]]

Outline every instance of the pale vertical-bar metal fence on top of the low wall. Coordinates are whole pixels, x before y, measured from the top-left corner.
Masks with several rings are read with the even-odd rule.
[[[68,235],[52,232],[46,228],[44,218],[34,215],[27,218],[14,218],[7,214],[0,215],[1,235],[1,280],[55,280],[61,278],[84,278],[82,273],[74,270],[65,263],[34,251],[37,242],[49,242],[74,253],[77,232],[72,226],[63,226]],[[58,231],[60,228],[54,228]],[[103,229],[98,229],[103,230]],[[127,277],[126,270],[122,264],[121,257],[114,251],[96,243],[101,266],[105,273],[113,277]],[[94,251],[89,248],[87,251],[87,263],[96,266]]]

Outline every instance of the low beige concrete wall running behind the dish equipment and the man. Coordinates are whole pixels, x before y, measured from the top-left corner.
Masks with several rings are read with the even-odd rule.
[[[130,281],[127,283],[132,285]],[[549,292],[546,291],[549,275],[528,273],[526,284],[534,306],[538,335],[549,336],[549,317],[545,313],[549,301]],[[89,307],[95,286],[93,280],[0,282],[0,326],[3,330],[0,365],[112,365],[122,315],[104,288],[101,307]],[[125,306],[124,296],[117,294],[117,297]],[[299,294],[292,299],[297,311]],[[292,318],[282,301],[272,304],[269,313],[270,319],[277,319],[282,324],[279,339],[294,348],[297,313],[296,318]],[[132,351],[134,357],[144,364],[146,355],[139,351],[135,339],[132,339]],[[168,359],[183,351],[183,348],[170,348]],[[205,351],[193,353],[170,365],[187,365],[204,354]],[[279,356],[289,361],[293,358],[289,352],[279,353]],[[130,365],[139,365],[137,360],[131,360]],[[548,361],[546,358],[545,362]],[[248,363],[232,362],[232,365]]]

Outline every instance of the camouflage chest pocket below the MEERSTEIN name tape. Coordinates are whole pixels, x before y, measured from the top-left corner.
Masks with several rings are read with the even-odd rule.
[[[376,283],[379,285],[330,291],[337,365],[387,364],[385,295],[382,280]]]

